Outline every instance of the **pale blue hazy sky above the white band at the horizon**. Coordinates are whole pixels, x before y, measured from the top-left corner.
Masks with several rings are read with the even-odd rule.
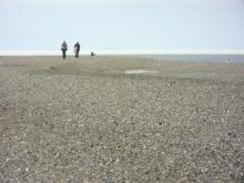
[[[244,0],[0,0],[1,50],[244,50]]]

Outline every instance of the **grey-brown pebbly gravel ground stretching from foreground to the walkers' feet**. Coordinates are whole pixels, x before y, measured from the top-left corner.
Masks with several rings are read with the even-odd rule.
[[[244,64],[1,57],[0,182],[243,183]]]

